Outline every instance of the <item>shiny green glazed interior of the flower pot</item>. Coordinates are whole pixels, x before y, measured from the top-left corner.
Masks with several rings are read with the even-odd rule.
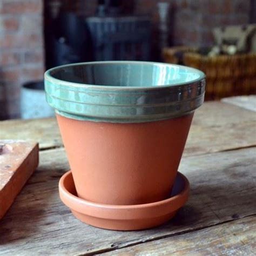
[[[50,75],[72,83],[125,87],[180,85],[204,78],[204,73],[196,69],[153,62],[73,64],[53,69]]]

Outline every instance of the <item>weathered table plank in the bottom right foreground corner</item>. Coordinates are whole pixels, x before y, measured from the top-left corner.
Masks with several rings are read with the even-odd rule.
[[[255,255],[256,217],[233,220],[103,255]]]

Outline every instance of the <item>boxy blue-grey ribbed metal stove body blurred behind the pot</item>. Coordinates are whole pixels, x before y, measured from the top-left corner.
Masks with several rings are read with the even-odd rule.
[[[140,16],[89,17],[86,25],[94,60],[149,60],[150,19]]]

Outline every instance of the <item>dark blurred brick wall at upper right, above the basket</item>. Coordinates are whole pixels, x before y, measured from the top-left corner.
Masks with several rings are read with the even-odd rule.
[[[137,0],[138,14],[149,14],[155,29],[158,0]],[[170,44],[212,45],[216,26],[250,22],[250,0],[166,0],[170,2]]]

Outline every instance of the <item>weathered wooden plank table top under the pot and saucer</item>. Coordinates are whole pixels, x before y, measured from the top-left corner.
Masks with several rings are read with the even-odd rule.
[[[38,169],[0,221],[0,254],[255,255],[256,99],[241,99],[196,112],[179,167],[190,198],[169,223],[145,231],[91,227],[63,205],[58,180],[69,164],[55,119],[0,122],[0,138],[41,147]]]

